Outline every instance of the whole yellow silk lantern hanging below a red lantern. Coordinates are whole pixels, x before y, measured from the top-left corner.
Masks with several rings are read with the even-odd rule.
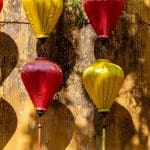
[[[107,59],[98,59],[82,76],[85,89],[99,112],[108,112],[124,79],[123,70]]]

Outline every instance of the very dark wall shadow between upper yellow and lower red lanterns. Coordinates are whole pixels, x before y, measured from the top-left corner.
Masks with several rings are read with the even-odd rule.
[[[69,30],[67,28],[67,30]],[[57,31],[51,33],[49,39],[45,43],[45,53],[49,60],[57,63],[63,71],[63,85],[69,78],[76,61],[75,48],[71,40],[65,36],[64,16],[60,18],[57,25]],[[41,42],[37,42],[37,54],[42,56]]]

